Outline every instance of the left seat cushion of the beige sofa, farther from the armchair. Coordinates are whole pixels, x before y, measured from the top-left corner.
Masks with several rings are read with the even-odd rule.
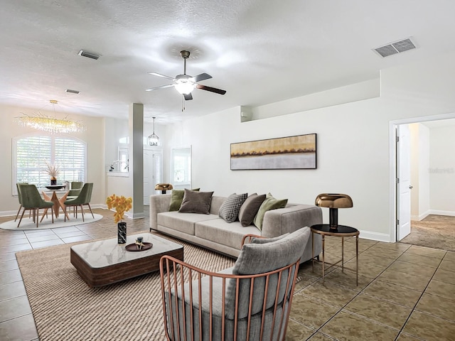
[[[220,220],[218,215],[200,215],[198,213],[185,213],[180,212],[161,212],[157,215],[157,224],[159,226],[169,227],[176,231],[194,235],[194,226],[196,222],[205,220]]]

